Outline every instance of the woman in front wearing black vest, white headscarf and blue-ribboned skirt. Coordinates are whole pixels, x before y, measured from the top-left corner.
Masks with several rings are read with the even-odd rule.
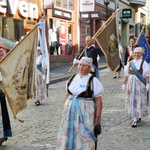
[[[90,71],[92,59],[82,57],[78,73],[66,84],[66,100],[57,140],[57,150],[95,150],[95,127],[102,113],[101,82]]]

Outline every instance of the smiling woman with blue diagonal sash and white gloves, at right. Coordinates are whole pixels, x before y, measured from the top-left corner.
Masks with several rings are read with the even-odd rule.
[[[134,59],[124,69],[122,89],[125,90],[125,111],[133,118],[132,127],[137,126],[141,118],[148,116],[147,92],[149,90],[150,68],[146,61],[141,59],[142,48],[134,49]]]

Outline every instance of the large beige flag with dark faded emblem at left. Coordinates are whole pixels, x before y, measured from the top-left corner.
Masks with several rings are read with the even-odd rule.
[[[37,42],[38,27],[35,26],[0,61],[2,87],[15,118],[27,107],[27,99],[33,94]]]

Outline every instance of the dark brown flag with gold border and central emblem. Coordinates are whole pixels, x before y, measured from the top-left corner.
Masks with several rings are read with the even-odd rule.
[[[113,14],[93,36],[106,57],[108,68],[114,72],[119,68],[119,46],[116,17]]]

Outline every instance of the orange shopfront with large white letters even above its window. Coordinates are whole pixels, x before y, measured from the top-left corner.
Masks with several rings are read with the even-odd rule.
[[[41,17],[39,0],[1,0],[0,1],[0,37],[13,42],[31,30]]]

